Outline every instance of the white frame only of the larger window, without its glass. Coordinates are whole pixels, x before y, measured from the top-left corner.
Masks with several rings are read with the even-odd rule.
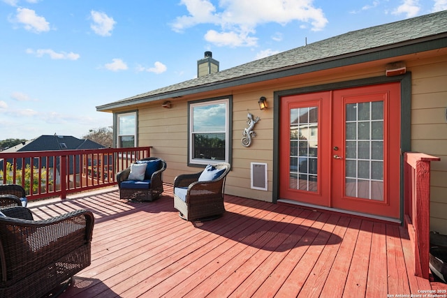
[[[229,97],[224,98],[215,98],[210,100],[200,100],[196,102],[189,103],[189,164],[191,165],[207,165],[207,164],[215,164],[221,163],[221,160],[214,160],[208,158],[193,158],[193,110],[194,107],[207,106],[207,105],[216,105],[219,103],[225,103],[225,162],[229,163],[230,160],[230,149],[231,149],[231,140],[230,140],[230,105],[231,100]],[[203,133],[203,132],[201,132]],[[213,133],[213,132],[210,132]]]

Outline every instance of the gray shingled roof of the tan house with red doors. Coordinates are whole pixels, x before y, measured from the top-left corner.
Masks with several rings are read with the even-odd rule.
[[[355,57],[366,52],[379,52],[386,48],[411,45],[412,43],[419,43],[421,38],[428,40],[430,38],[437,39],[439,34],[442,33],[447,33],[447,10],[351,31],[316,43],[297,47],[293,50],[274,54],[270,57],[251,61],[247,64],[221,70],[218,73],[197,77],[193,80],[124,98],[107,105],[101,105],[96,107],[96,109],[101,111],[111,107],[179,96],[185,90],[189,90],[189,93],[194,93],[194,89],[217,87],[222,82],[235,82],[265,73],[300,68],[309,64],[334,61],[345,57]],[[446,36],[442,37],[445,38]]]

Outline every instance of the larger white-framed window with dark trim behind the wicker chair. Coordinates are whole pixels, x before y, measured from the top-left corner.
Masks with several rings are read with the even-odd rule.
[[[189,163],[230,160],[230,98],[189,103]]]

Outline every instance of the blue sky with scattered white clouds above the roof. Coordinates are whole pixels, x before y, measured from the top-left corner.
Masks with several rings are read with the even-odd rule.
[[[82,137],[103,105],[348,31],[447,9],[447,0],[0,0],[0,140]]]

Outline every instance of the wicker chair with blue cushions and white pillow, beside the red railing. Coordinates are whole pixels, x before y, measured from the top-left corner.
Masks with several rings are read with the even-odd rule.
[[[117,173],[119,198],[132,201],[153,201],[163,193],[163,171],[166,161],[149,157],[136,161]]]

